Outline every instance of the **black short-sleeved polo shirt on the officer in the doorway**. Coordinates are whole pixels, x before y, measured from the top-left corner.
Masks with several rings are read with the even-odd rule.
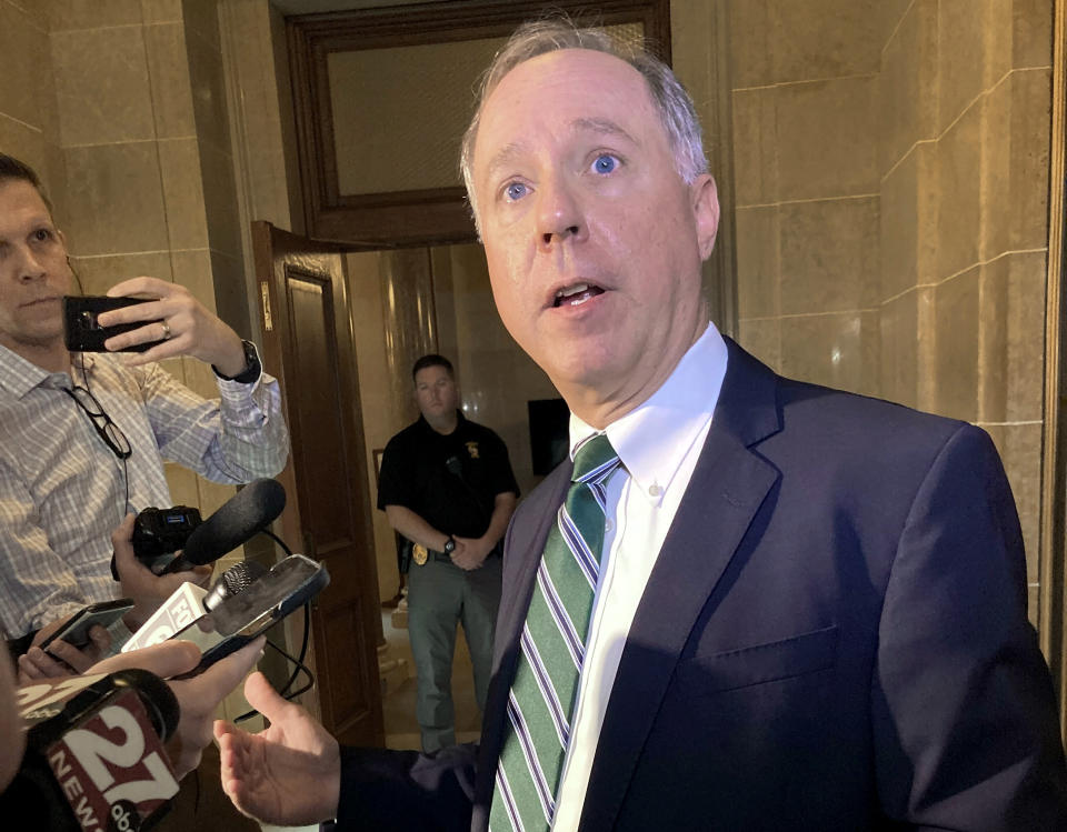
[[[488,428],[460,411],[456,430],[442,435],[422,417],[389,440],[378,478],[378,508],[402,505],[438,531],[480,538],[497,494],[519,485],[508,449]]]

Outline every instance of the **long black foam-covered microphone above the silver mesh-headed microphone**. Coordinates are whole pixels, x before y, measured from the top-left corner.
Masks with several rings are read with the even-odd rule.
[[[286,508],[286,490],[276,480],[255,480],[192,530],[181,554],[161,574],[217,561],[261,532]]]

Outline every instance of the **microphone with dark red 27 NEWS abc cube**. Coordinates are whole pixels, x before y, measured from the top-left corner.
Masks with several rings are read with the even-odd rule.
[[[178,781],[163,743],[180,709],[159,676],[71,676],[20,688],[18,702],[27,751],[4,792],[14,828],[147,829],[167,811]]]

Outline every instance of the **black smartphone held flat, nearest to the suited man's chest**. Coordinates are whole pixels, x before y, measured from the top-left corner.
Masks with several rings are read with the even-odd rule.
[[[248,589],[201,615],[172,639],[200,648],[200,664],[178,679],[196,675],[315,598],[330,582],[326,567],[302,554],[290,554],[257,578]]]

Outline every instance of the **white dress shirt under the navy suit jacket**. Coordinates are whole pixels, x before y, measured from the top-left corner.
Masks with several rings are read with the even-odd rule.
[[[600,577],[554,830],[578,828],[619,659],[711,427],[726,355],[726,342],[709,323],[664,385],[604,431],[622,464],[608,481]],[[571,459],[596,433],[571,414]]]

